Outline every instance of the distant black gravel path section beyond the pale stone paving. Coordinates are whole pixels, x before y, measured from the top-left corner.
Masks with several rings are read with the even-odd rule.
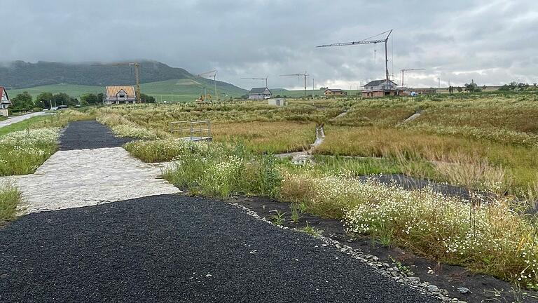
[[[114,137],[110,128],[97,121],[74,121],[60,136],[60,150],[121,147],[132,138]]]

